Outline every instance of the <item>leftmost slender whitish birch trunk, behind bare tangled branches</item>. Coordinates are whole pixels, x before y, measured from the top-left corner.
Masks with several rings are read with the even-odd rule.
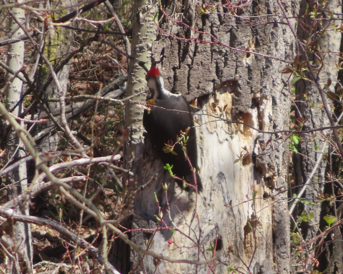
[[[18,1],[18,3],[22,2]],[[9,32],[13,35],[11,38],[15,38],[23,34],[23,30],[19,24],[24,24],[25,12],[21,8],[13,8],[9,12],[9,15]],[[23,69],[24,50],[24,41],[13,43],[8,49],[8,66],[17,74]],[[23,76],[22,73],[19,73],[19,75]],[[6,93],[6,107],[8,110],[12,110],[11,113],[13,115],[20,116],[23,111],[23,81],[11,73],[8,73],[7,81],[9,86]],[[21,125],[24,126],[23,121],[21,121]],[[20,139],[17,138],[14,130],[11,130],[8,135],[6,148],[8,150],[8,163],[17,161],[26,155],[24,146]],[[7,193],[9,200],[17,197],[27,188],[27,169],[25,162],[7,175],[6,184],[8,185]],[[29,201],[20,204],[16,208],[17,212],[28,215],[28,205]],[[9,224],[7,233],[9,233],[8,236],[3,235],[0,240],[5,249],[14,251],[11,256],[7,257],[9,260],[7,271],[31,273],[33,255],[31,225],[24,222],[12,222],[12,224]]]

